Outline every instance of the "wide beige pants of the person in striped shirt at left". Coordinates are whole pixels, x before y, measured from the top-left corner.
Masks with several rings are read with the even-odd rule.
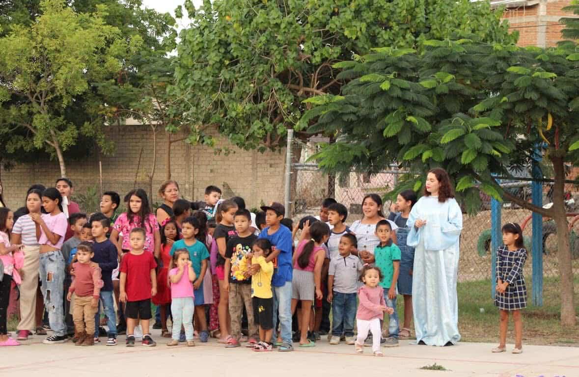
[[[20,323],[18,330],[34,331],[36,328],[36,290],[40,266],[40,246],[24,246],[23,277],[20,285]]]

